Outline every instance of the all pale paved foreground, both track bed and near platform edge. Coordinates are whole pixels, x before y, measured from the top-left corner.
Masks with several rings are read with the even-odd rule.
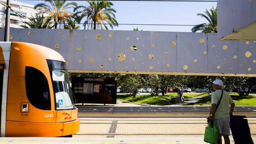
[[[256,143],[256,118],[247,119]],[[0,138],[0,144],[206,144],[206,126],[205,118],[81,118],[72,138]]]

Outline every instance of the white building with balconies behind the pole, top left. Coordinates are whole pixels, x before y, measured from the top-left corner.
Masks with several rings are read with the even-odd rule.
[[[6,4],[6,0],[0,0],[2,3]],[[10,6],[13,10],[18,12],[20,15],[26,19],[19,17],[13,10],[10,10],[10,27],[21,28],[19,25],[24,25],[22,21],[28,21],[31,15],[35,15],[39,10],[34,9],[34,5],[21,3],[19,1],[10,1]],[[0,27],[5,27],[5,18],[6,18],[6,7],[0,3]]]

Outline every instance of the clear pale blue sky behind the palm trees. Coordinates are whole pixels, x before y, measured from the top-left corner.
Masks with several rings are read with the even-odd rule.
[[[22,3],[37,4],[40,0],[19,0]],[[70,1],[67,1],[70,2]],[[75,1],[78,5],[88,6],[85,1]],[[115,16],[119,24],[183,24],[196,25],[207,22],[197,15],[217,2],[174,2],[174,1],[111,1],[116,10]],[[84,21],[83,21],[84,22]],[[119,25],[113,30],[133,30],[138,27],[143,31],[177,31],[191,32],[193,26],[148,26]],[[81,26],[83,29],[83,26]],[[111,29],[109,27],[109,29]]]

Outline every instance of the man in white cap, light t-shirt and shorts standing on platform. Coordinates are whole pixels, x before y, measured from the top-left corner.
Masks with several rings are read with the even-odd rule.
[[[216,126],[219,129],[218,144],[222,143],[222,140],[221,140],[222,136],[224,137],[225,144],[230,144],[230,139],[228,137],[230,136],[229,122],[230,122],[230,115],[232,115],[234,111],[235,103],[233,102],[230,95],[225,90],[223,90],[223,96],[222,96],[221,102],[214,115],[217,103],[221,98],[223,82],[220,79],[216,79],[212,83],[213,83],[212,87],[215,90],[215,92],[212,93],[211,95],[210,120],[214,120],[216,123]],[[231,105],[231,108],[229,108],[229,105]]]

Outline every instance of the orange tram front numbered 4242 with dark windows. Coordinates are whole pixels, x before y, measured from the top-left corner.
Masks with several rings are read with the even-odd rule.
[[[67,67],[56,51],[0,42],[1,137],[71,136],[79,131]]]

